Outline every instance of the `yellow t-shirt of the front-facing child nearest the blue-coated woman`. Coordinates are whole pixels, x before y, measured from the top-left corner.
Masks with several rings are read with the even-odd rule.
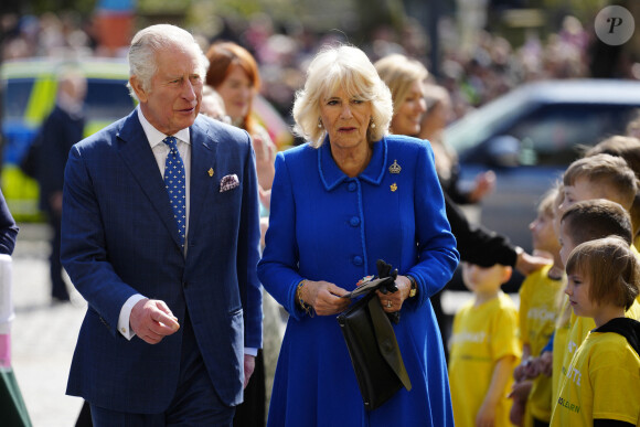
[[[513,355],[520,357],[518,309],[511,297],[497,298],[474,307],[466,303],[454,318],[449,351],[449,385],[456,427],[476,425],[476,415],[484,401],[495,363]],[[495,425],[508,426],[511,399],[506,398],[512,381],[504,388],[495,410]]]

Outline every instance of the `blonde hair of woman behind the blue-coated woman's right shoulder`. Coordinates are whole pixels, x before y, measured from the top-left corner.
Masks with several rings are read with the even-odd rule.
[[[397,111],[405,102],[414,83],[424,84],[429,75],[419,62],[399,53],[387,55],[374,64],[380,78],[388,86],[393,98],[393,109]]]

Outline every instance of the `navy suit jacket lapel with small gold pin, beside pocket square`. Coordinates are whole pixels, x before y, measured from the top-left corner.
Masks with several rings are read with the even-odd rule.
[[[205,201],[220,181],[216,152],[220,141],[196,119],[191,127],[191,198],[189,234],[198,227]]]

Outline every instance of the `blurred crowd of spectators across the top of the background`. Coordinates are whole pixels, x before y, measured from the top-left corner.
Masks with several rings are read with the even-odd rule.
[[[222,20],[226,22],[225,20]],[[2,58],[29,56],[104,55],[92,21],[72,12],[33,15],[2,15]],[[460,49],[456,23],[440,19],[441,46],[438,75],[434,83],[451,96],[455,118],[530,81],[589,77],[593,31],[567,15],[561,29],[547,36],[531,31],[520,46],[505,38],[480,32],[476,45]],[[330,30],[316,33],[300,25],[278,25],[267,14],[224,24],[212,36],[201,35],[204,47],[215,40],[234,41],[254,54],[260,67],[263,95],[285,120],[290,120],[295,92],[301,87],[307,65],[318,47],[332,42],[353,43],[350,35]],[[363,49],[372,61],[391,53],[403,53],[429,64],[429,41],[423,25],[408,18],[402,31],[381,25]],[[122,49],[122,55],[126,46]],[[118,55],[118,52],[109,52]],[[620,71],[625,78],[640,78],[640,65]]]

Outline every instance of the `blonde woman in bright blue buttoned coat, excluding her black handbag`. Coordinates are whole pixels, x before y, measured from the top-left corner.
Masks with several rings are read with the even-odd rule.
[[[323,49],[296,96],[296,130],[308,143],[279,153],[270,225],[258,265],[289,312],[269,426],[452,426],[446,361],[429,302],[458,264],[434,154],[388,136],[392,98],[356,47]],[[376,260],[397,268],[398,290],[378,293],[413,388],[364,409],[335,316],[341,296]]]

